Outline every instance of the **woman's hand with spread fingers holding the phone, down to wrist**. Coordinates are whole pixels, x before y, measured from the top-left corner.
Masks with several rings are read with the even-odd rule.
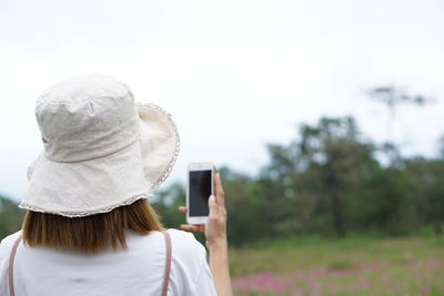
[[[225,197],[219,173],[214,176],[214,196],[209,198],[210,214],[205,225],[182,224],[184,231],[205,233],[206,247],[226,247],[226,210]],[[186,206],[179,206],[179,211],[186,213]]]

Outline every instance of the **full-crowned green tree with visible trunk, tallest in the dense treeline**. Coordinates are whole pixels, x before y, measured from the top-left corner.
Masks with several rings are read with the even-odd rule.
[[[353,118],[321,119],[317,126],[301,126],[300,151],[314,171],[319,184],[319,203],[326,198],[335,233],[345,236],[346,192],[355,187],[363,174],[376,165],[373,145],[362,142]]]

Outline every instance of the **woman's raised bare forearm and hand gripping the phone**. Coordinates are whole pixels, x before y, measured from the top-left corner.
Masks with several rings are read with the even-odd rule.
[[[219,296],[232,296],[230,268],[229,268],[229,244],[226,239],[226,210],[225,197],[221,176],[214,177],[215,197],[209,200],[210,215],[205,225],[181,225],[182,229],[204,232],[206,247],[210,253],[210,269],[213,274],[214,286]],[[186,213],[185,206],[179,211]]]

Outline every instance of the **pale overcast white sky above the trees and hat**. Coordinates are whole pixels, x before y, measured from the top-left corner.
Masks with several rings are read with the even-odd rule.
[[[42,150],[33,108],[60,80],[124,81],[169,111],[186,164],[255,174],[266,143],[297,125],[354,115],[386,140],[386,108],[366,91],[393,84],[435,99],[396,109],[395,141],[433,156],[444,133],[444,1],[0,0],[0,193],[19,201]],[[167,184],[168,185],[168,184]]]

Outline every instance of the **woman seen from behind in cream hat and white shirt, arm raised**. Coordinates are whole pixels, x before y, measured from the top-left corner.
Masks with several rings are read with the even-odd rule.
[[[0,245],[0,296],[231,295],[219,174],[206,225],[181,225],[205,233],[210,265],[147,202],[179,152],[167,112],[88,74],[44,91],[36,116],[44,151],[28,172],[22,231]]]

